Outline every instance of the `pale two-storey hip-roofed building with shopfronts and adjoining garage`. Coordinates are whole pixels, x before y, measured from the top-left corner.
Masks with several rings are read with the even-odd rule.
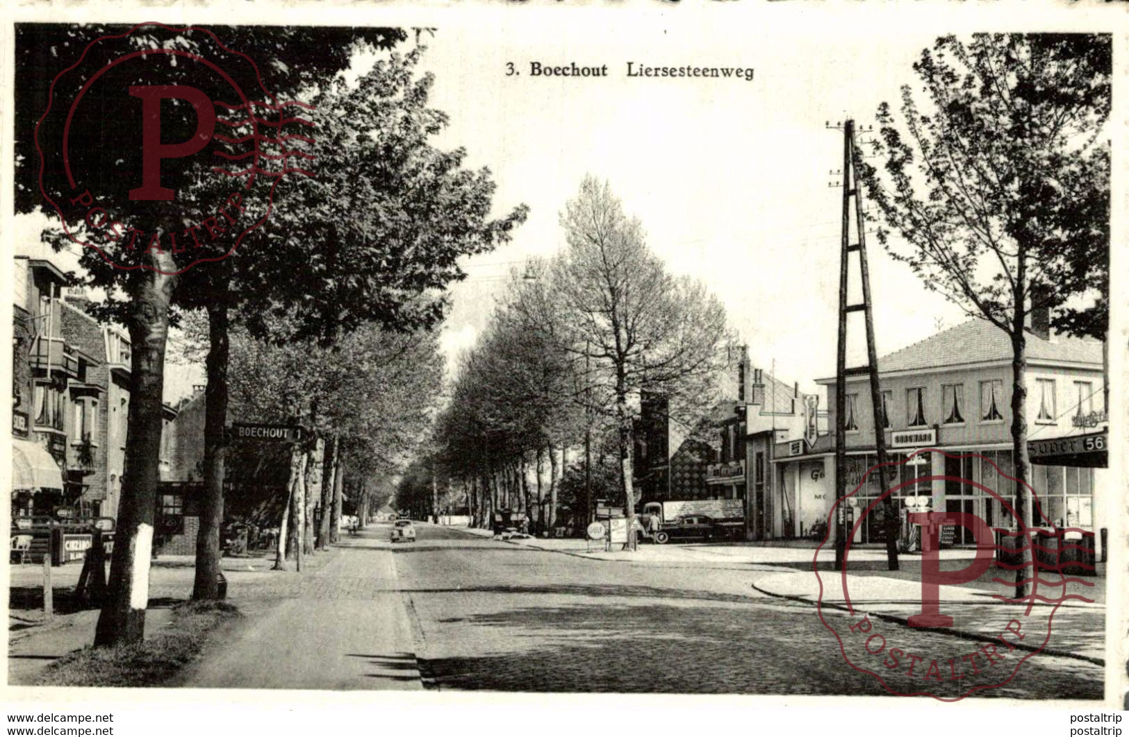
[[[891,461],[898,467],[894,492],[945,513],[972,513],[989,525],[1014,527],[1000,501],[971,483],[929,480],[959,477],[1014,499],[1012,452],[1012,346],[1008,336],[983,320],[970,320],[878,359],[881,407],[875,417],[866,375],[846,381],[847,488],[858,486],[877,462],[875,423],[881,423]],[[835,407],[835,380],[819,382],[828,406]],[[1036,526],[1097,527],[1095,508],[1103,485],[1105,392],[1102,344],[1052,335],[1047,316],[1034,316],[1027,335],[1027,436],[1032,460],[1030,483],[1039,499]],[[829,424],[834,426],[832,411]],[[948,458],[973,453],[982,458]],[[998,471],[997,471],[998,469]],[[774,461],[778,508],[793,508],[788,520],[776,513],[772,536],[803,536],[825,523],[835,499],[834,437],[779,443]],[[918,481],[918,479],[924,479]],[[859,505],[879,494],[877,474],[859,491]],[[1030,492],[1027,492],[1030,497]],[[1031,509],[1032,505],[1029,504]],[[1040,514],[1041,513],[1041,514]],[[877,542],[877,524],[864,524],[855,542]],[[954,530],[956,544],[970,544],[971,533]]]

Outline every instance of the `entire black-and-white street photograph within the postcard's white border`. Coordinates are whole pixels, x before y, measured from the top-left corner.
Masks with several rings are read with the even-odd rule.
[[[10,685],[1108,698],[1111,36],[570,33],[16,25]]]

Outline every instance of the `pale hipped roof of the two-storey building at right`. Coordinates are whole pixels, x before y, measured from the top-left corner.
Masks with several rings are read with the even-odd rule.
[[[1012,361],[1012,340],[991,322],[972,319],[878,358],[879,373]],[[1027,331],[1027,361],[1102,365],[1097,340],[1052,336],[1050,340]],[[821,383],[834,379],[821,379]]]

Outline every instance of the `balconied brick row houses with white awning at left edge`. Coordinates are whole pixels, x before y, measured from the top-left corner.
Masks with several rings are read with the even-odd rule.
[[[16,257],[12,518],[115,517],[129,415],[129,339],[100,326],[46,259]]]

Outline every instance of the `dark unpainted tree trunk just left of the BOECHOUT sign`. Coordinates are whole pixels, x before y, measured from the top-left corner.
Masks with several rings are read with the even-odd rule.
[[[196,578],[192,586],[192,598],[196,601],[219,598],[229,349],[227,303],[222,299],[208,305],[208,358],[204,362],[208,376],[204,389],[204,488],[196,532]]]

